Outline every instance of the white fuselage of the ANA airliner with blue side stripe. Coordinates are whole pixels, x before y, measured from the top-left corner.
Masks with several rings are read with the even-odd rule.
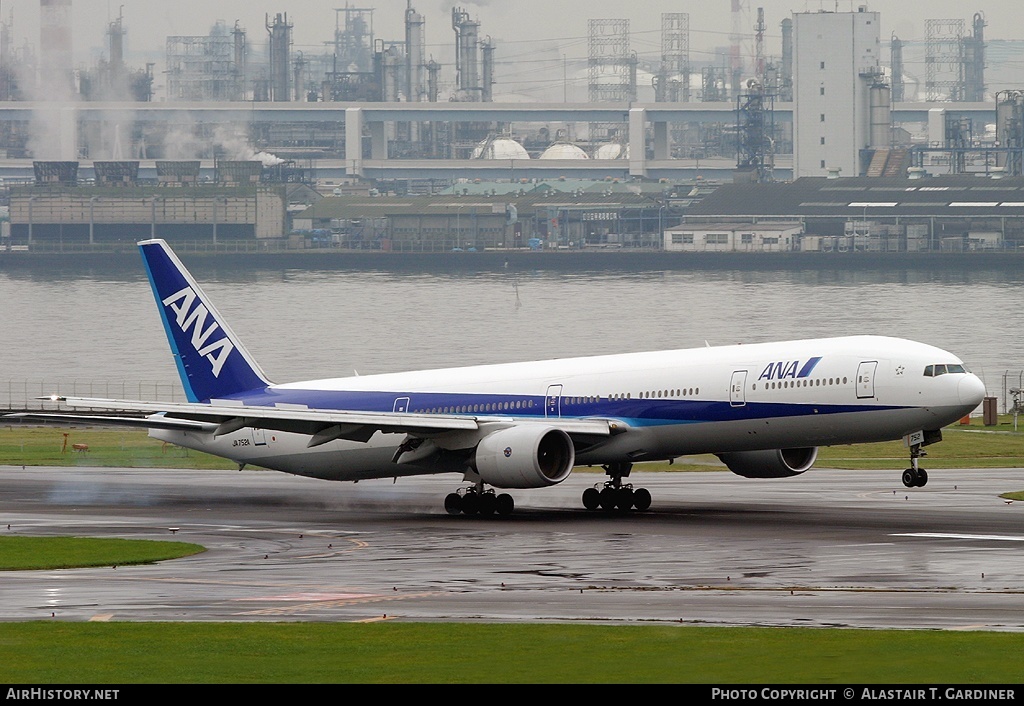
[[[927,366],[956,372],[926,376]],[[272,385],[247,405],[469,416],[488,426],[615,420],[577,464],[879,442],[972,412],[984,385],[913,341],[851,336],[511,363]],[[494,420],[494,424],[488,424]],[[457,434],[460,432],[451,432]],[[393,462],[404,434],[307,448],[309,435],[152,430],[180,446],[291,473],[354,481],[455,468]],[[466,444],[472,444],[468,439]]]

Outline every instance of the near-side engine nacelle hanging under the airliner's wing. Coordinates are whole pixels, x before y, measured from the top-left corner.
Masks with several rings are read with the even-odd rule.
[[[561,483],[575,464],[572,440],[561,429],[519,424],[484,437],[473,465],[496,488],[545,488]]]

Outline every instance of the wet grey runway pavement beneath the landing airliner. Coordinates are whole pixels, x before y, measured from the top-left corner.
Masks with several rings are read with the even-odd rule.
[[[0,620],[516,621],[1024,630],[1024,469],[634,473],[643,513],[574,472],[506,517],[455,475],[0,466],[0,532],[180,540],[154,566],[5,572]],[[7,526],[10,529],[7,529]],[[171,529],[177,531],[172,534]]]

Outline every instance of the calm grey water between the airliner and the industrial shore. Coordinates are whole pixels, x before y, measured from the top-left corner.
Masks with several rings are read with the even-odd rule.
[[[950,350],[1000,399],[1024,369],[1010,269],[195,274],[275,381],[858,333]],[[141,265],[0,271],[0,386],[177,387]]]

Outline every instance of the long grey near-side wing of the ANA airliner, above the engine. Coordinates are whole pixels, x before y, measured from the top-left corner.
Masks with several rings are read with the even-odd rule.
[[[31,421],[48,423],[95,423],[212,431],[215,435],[230,433],[244,427],[305,433],[312,437],[310,446],[335,439],[367,442],[376,431],[412,433],[420,437],[445,431],[475,431],[482,423],[506,422],[545,423],[569,435],[608,437],[625,430],[620,422],[609,419],[537,419],[515,417],[471,417],[406,412],[361,412],[351,410],[307,409],[298,405],[262,407],[240,405],[232,401],[199,403],[155,403],[132,400],[96,398],[46,398],[74,408],[138,412],[144,417],[110,417],[98,414],[68,414],[38,412],[9,415]]]

